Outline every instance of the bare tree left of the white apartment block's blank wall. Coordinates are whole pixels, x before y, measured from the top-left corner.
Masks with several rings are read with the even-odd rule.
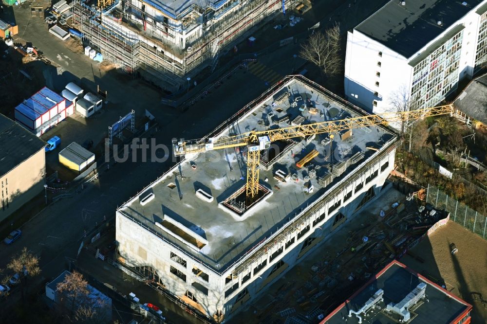
[[[324,34],[318,32],[311,35],[308,41],[301,45],[300,56],[318,65],[327,75],[340,72],[340,26],[335,25]]]

